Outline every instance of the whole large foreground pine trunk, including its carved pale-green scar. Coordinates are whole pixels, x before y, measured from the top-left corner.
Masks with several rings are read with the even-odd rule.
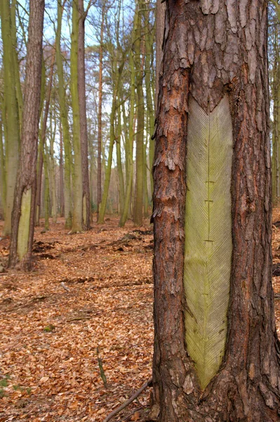
[[[271,282],[267,2],[168,1],[166,16],[154,162],[154,411],[161,422],[276,422],[280,345]],[[219,161],[218,146],[222,151],[229,139],[232,172]],[[194,186],[200,172],[206,179]],[[227,187],[216,196],[224,179]],[[196,203],[200,191],[206,197]],[[227,209],[227,224],[211,214],[217,207]],[[227,243],[219,243],[224,234]],[[227,292],[217,300],[221,285]],[[209,303],[212,314],[204,306]],[[218,323],[220,307],[227,321]],[[221,338],[205,367],[206,346],[194,354],[192,341],[201,344],[204,327],[215,327],[201,334],[205,345]]]

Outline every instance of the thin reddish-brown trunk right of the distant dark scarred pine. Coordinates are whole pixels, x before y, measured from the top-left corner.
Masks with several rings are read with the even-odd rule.
[[[105,4],[102,4],[100,46],[99,46],[99,87],[98,87],[98,182],[97,182],[97,221],[102,199],[101,180],[101,143],[102,143],[102,68],[103,68],[103,32],[104,32]]]

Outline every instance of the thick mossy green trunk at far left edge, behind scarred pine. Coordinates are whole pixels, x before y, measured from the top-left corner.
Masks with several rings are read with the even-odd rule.
[[[6,209],[4,235],[11,234],[11,215],[17,179],[20,143],[20,120],[16,97],[15,46],[13,45],[11,6],[9,0],[0,2],[1,34],[4,65],[4,110],[6,113],[5,160],[6,160]]]

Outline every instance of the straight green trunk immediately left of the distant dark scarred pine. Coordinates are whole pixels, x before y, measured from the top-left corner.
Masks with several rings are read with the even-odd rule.
[[[71,97],[73,113],[73,149],[74,149],[74,207],[71,233],[81,233],[83,230],[83,178],[81,162],[81,132],[80,132],[80,107],[78,91],[78,47],[79,44],[79,10],[75,1],[72,3],[72,34],[71,34]]]

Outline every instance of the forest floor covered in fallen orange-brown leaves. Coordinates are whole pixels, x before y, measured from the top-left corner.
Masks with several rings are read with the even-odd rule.
[[[0,422],[101,422],[151,377],[152,226],[117,224],[72,236],[62,219],[36,228],[29,273],[5,269],[1,239]],[[280,332],[280,228],[272,242]],[[112,421],[144,421],[150,393]]]

